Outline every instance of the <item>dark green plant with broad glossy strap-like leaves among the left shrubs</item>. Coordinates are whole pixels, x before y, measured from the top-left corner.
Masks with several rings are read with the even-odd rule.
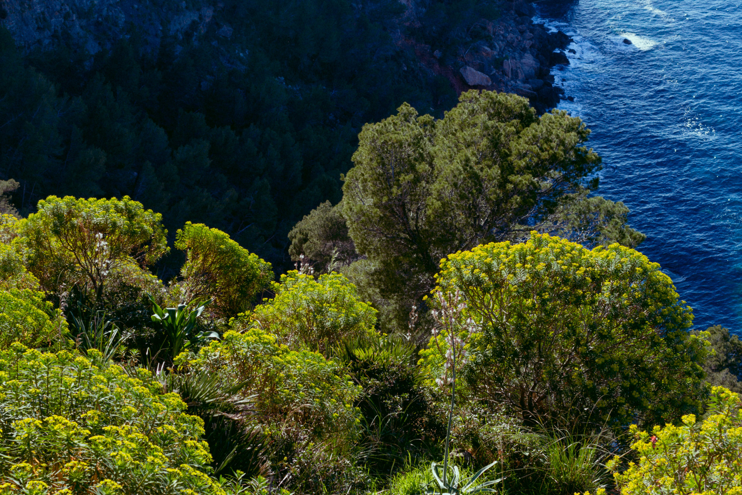
[[[211,304],[211,300],[204,301],[203,303],[194,303],[193,309],[188,307],[188,304],[178,304],[177,308],[165,308],[162,309],[151,295],[148,295],[150,302],[152,303],[152,311],[154,315],[151,316],[152,321],[157,326],[165,330],[165,341],[169,357],[174,359],[181,353],[181,351],[188,349],[194,342],[204,342],[209,338],[219,338],[217,332],[198,332],[196,334],[196,326],[198,324],[198,317],[201,315],[203,310],[208,304]]]

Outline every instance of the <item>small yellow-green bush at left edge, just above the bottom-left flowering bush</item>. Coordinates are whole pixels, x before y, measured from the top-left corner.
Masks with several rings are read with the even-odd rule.
[[[59,309],[45,301],[44,293],[32,289],[0,291],[0,347],[13,342],[33,347],[51,346],[67,333],[67,321]]]

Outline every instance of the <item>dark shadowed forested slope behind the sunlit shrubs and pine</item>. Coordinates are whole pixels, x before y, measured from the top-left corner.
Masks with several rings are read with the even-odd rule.
[[[280,266],[294,223],[340,200],[365,122],[402,102],[441,117],[485,87],[469,84],[482,71],[555,101],[549,53],[565,39],[527,14],[485,0],[5,0],[0,178],[19,181],[22,214],[47,194],[129,195],[171,234],[207,223]]]

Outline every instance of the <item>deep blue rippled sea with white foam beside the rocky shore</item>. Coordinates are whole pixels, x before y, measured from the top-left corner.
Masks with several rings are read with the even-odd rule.
[[[695,327],[742,335],[742,1],[537,2],[574,37],[555,68],[603,157],[597,194],[623,201]],[[631,45],[623,42],[631,41]]]

